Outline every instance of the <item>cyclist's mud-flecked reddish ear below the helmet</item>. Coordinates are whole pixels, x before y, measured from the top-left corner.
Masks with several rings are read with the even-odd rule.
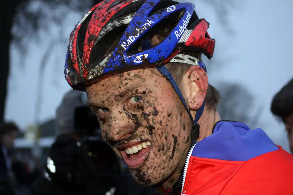
[[[207,95],[207,73],[201,67],[193,65],[182,79],[183,94],[191,110],[200,108]]]

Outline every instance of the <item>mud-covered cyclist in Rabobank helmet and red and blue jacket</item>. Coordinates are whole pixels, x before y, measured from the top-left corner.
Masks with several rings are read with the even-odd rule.
[[[261,129],[221,121],[194,4],[105,0],[72,31],[65,78],[137,182],[164,194],[292,194],[293,156]],[[197,144],[196,144],[197,143]]]

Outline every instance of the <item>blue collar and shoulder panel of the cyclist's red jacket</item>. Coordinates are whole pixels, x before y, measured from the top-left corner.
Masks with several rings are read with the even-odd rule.
[[[198,142],[192,156],[225,161],[248,161],[279,148],[260,128],[251,130],[246,124],[219,121],[212,135]]]

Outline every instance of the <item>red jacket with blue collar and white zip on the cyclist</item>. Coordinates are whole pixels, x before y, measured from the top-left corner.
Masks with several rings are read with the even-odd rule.
[[[293,195],[293,156],[262,129],[220,121],[186,159],[183,195]]]

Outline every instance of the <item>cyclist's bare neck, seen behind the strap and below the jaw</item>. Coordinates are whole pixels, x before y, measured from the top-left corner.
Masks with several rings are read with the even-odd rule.
[[[200,125],[200,137],[196,141],[199,142],[200,140],[204,139],[205,137],[208,137],[209,135],[211,135],[215,123],[218,122],[219,120],[221,120],[221,117],[217,111],[208,111],[205,108],[205,110],[202,113],[202,116],[200,117],[200,120],[198,121],[198,123]],[[172,189],[173,185],[179,179],[180,173],[182,171],[182,168],[185,164],[185,161],[186,161],[186,158],[188,155],[188,151],[189,151],[189,148],[185,152],[185,155],[181,159],[174,174],[170,178],[168,178],[167,181],[163,182],[164,187],[166,187],[168,189]]]

